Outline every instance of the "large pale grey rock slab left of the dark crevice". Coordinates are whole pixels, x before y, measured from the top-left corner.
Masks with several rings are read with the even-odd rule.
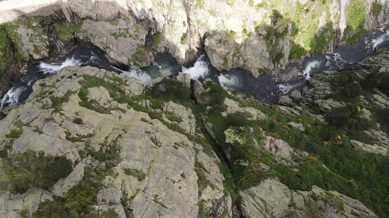
[[[87,108],[82,104],[84,97],[80,99],[80,89],[84,87],[82,81],[88,83],[88,78],[93,78],[94,85],[86,88],[88,94],[85,97],[93,102]],[[100,86],[96,84],[99,79],[106,82],[100,83]],[[39,85],[41,83],[47,86]],[[84,169],[98,170],[102,167],[102,163],[88,153],[87,158],[81,159],[80,150],[101,151],[103,147],[108,149],[115,145],[120,149],[120,161],[112,167],[112,174],[102,181],[103,187],[93,205],[97,210],[113,208],[125,218],[121,199],[126,198],[131,199],[130,208],[135,217],[166,215],[196,218],[199,202],[207,215],[231,217],[232,201],[224,194],[219,159],[213,151],[204,153],[201,144],[188,139],[189,135],[195,137],[196,134],[196,119],[191,109],[167,102],[162,111],[164,114],[173,112],[182,119],[176,124],[182,128],[180,132],[189,134],[184,135],[169,129],[165,124],[172,121],[166,118],[162,118],[162,123],[145,112],[135,111],[136,107],[117,102],[111,97],[111,88],[114,87],[106,84],[119,86],[128,97],[141,94],[146,87],[134,78],[117,76],[103,69],[65,67],[57,75],[37,81],[25,104],[12,109],[0,121],[1,146],[9,142],[6,135],[10,130],[21,128],[23,133],[11,142],[11,152],[32,149],[53,156],[65,155],[73,162],[77,161],[73,172],[67,178],[58,180],[51,190],[54,196],[62,196],[63,192],[81,182]],[[58,99],[62,102],[56,107]],[[75,118],[82,122],[75,123]],[[73,139],[70,140],[70,137]],[[200,175],[195,170],[198,164],[201,164],[200,171],[205,176],[202,179],[207,182],[203,190],[199,190],[198,186]],[[50,199],[46,191],[39,190],[41,201]],[[11,214],[22,209],[32,213],[39,204],[37,194],[34,194],[33,203],[26,203],[30,190],[11,198],[4,192],[1,195],[1,201],[4,201],[0,213],[2,217],[15,217]],[[11,201],[12,206],[9,206]]]

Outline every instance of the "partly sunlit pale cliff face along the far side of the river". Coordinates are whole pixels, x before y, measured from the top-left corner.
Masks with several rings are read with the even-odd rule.
[[[82,38],[130,66],[149,65],[155,52],[170,52],[180,64],[187,64],[205,48],[218,70],[242,67],[255,77],[265,69],[285,67],[290,59],[331,54],[338,45],[361,37],[365,29],[384,26],[389,16],[383,0],[47,0],[21,4],[6,0],[0,6],[0,23],[22,15],[49,16],[58,22],[54,26],[60,41]],[[48,24],[22,19],[14,27],[17,34],[4,28],[9,32],[5,36],[16,43],[22,57],[47,57],[52,55],[47,43],[54,45],[47,40],[53,35]],[[60,42],[56,44],[61,47]]]

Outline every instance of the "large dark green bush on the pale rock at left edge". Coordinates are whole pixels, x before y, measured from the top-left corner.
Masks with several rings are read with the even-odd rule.
[[[9,154],[0,166],[0,190],[11,194],[25,192],[29,187],[50,189],[59,178],[72,172],[72,162],[63,156],[26,151]]]

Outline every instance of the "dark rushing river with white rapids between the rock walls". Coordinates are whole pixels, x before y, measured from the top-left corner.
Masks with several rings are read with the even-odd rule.
[[[303,73],[297,80],[287,84],[277,85],[269,74],[261,74],[254,78],[242,68],[219,72],[212,67],[209,58],[204,52],[198,54],[197,60],[191,67],[184,67],[168,53],[159,54],[154,64],[139,69],[119,69],[109,64],[104,57],[104,52],[96,47],[77,45],[62,61],[47,63],[35,61],[28,66],[28,73],[22,76],[18,82],[0,99],[0,109],[3,107],[25,101],[32,92],[35,81],[55,74],[66,66],[93,66],[100,69],[114,71],[121,76],[131,76],[152,85],[152,81],[158,77],[169,77],[187,73],[192,80],[203,81],[206,78],[219,83],[225,88],[237,90],[242,93],[252,93],[258,100],[276,101],[280,94],[288,94],[294,88],[301,90],[306,81],[313,74],[324,70],[340,70],[349,64],[354,64],[362,59],[373,55],[375,48],[387,47],[389,38],[389,26],[375,29],[363,35],[350,46],[339,46],[334,54],[317,54],[305,58],[300,71]]]

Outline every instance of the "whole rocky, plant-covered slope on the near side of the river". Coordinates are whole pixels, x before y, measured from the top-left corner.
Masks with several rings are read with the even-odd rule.
[[[335,78],[368,90],[366,73],[387,75],[387,60],[387,51],[368,58],[343,72],[348,79],[326,71],[282,105],[211,81],[190,84],[186,74],[151,88],[94,67],[65,67],[2,112],[0,153],[3,170],[28,150],[66,157],[73,170],[50,187],[1,192],[1,216],[304,218],[331,209],[338,217],[385,217],[389,141],[377,118],[389,102],[378,88],[387,91],[378,82],[364,92],[371,94],[341,99],[336,93],[345,90],[328,84]],[[69,209],[80,185],[94,194]]]

